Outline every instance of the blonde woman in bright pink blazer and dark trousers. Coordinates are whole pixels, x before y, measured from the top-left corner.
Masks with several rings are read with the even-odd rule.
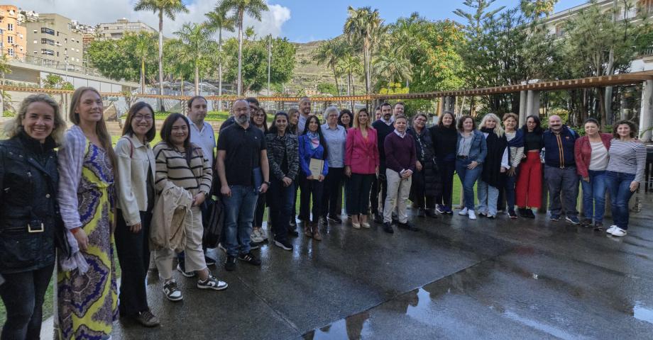
[[[378,148],[376,130],[371,127],[370,115],[366,108],[356,113],[353,128],[347,132],[345,147],[345,175],[349,177],[346,190],[347,215],[351,215],[351,225],[360,229],[369,228],[367,210],[370,189],[374,176],[378,176]]]

